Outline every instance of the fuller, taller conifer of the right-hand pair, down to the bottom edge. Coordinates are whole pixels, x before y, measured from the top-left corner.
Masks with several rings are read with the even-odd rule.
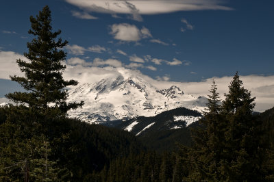
[[[223,173],[229,181],[260,181],[260,122],[253,116],[255,97],[242,86],[238,72],[225,94],[222,114],[227,122]]]

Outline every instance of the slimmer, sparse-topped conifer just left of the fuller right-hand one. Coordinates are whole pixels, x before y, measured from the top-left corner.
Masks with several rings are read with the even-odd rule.
[[[199,122],[201,127],[193,131],[194,145],[190,156],[193,160],[193,170],[190,172],[190,180],[222,181],[220,161],[224,146],[223,132],[225,123],[221,112],[221,100],[217,92],[215,81],[212,82],[210,95],[204,118]]]

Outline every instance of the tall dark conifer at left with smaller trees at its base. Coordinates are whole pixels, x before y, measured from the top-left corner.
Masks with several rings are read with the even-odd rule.
[[[54,133],[52,126],[65,119],[69,109],[84,103],[67,103],[67,86],[77,81],[65,81],[62,62],[66,53],[62,51],[68,42],[57,39],[61,31],[52,31],[51,11],[48,6],[38,16],[30,16],[32,28],[29,34],[35,38],[27,43],[27,60],[17,60],[25,77],[11,76],[27,92],[14,92],[6,97],[16,103],[5,107],[1,120],[1,181],[56,181],[70,176],[66,168],[59,168],[58,159],[53,159],[51,144],[55,138],[66,133]],[[3,119],[3,118],[1,118]]]

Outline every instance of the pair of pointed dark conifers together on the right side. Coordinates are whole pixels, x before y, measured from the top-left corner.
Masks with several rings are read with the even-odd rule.
[[[269,146],[262,143],[262,120],[253,115],[255,98],[242,86],[238,73],[221,103],[213,82],[208,112],[195,130],[195,143],[188,150],[192,163],[190,181],[266,181],[273,169],[266,169]]]

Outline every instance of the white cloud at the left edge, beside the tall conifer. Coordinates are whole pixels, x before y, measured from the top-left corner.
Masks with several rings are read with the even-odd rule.
[[[0,79],[10,79],[10,75],[24,75],[16,63],[18,59],[27,61],[21,54],[12,51],[0,51]]]

